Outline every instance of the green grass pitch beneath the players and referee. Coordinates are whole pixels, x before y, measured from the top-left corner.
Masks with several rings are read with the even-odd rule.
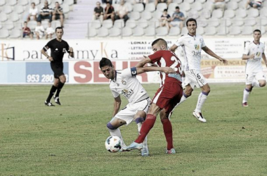
[[[150,97],[158,87],[143,86]],[[148,134],[150,156],[142,157],[105,150],[114,100],[108,84],[66,84],[56,107],[44,106],[51,85],[1,85],[0,175],[267,175],[266,87],[254,88],[244,108],[245,84],[210,86],[207,123],[192,115],[195,89],[171,116],[177,153],[164,153],[158,117]],[[126,144],[136,139],[135,122],[120,129]]]

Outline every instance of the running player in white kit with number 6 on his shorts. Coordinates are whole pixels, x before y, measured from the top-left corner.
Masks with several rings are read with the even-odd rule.
[[[228,61],[214,54],[214,52],[211,51],[211,49],[209,49],[204,43],[203,37],[199,34],[196,34],[197,21],[194,18],[189,18],[186,21],[186,26],[188,28],[188,34],[180,37],[178,41],[170,48],[170,50],[174,52],[178,46],[181,46],[183,47],[183,51],[185,53],[185,81],[183,82],[184,90],[181,101],[177,104],[177,106],[191,96],[195,87],[201,88],[202,92],[198,96],[197,106],[195,111],[193,111],[193,115],[195,118],[197,118],[197,120],[200,120],[201,122],[207,122],[207,120],[203,117],[201,110],[210,92],[210,87],[205,77],[200,73],[201,51],[203,49],[207,54],[217,58],[219,61],[222,61],[225,65],[228,63]]]

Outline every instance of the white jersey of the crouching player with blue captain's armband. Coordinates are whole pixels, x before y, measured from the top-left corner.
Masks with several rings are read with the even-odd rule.
[[[129,103],[148,98],[148,94],[136,78],[136,68],[126,68],[124,70],[116,70],[116,75],[110,81],[110,90],[116,98],[119,94],[125,96]]]

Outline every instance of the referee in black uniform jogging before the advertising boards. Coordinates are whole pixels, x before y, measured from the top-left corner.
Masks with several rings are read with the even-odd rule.
[[[67,44],[67,42],[65,42],[62,39],[62,36],[63,36],[63,28],[56,27],[56,39],[52,39],[50,42],[46,44],[46,46],[44,46],[43,49],[41,49],[41,54],[44,54],[44,56],[48,58],[48,60],[50,61],[51,69],[53,70],[54,73],[53,86],[50,89],[46,101],[44,101],[44,104],[46,106],[54,106],[50,102],[53,95],[55,103],[61,105],[59,101],[59,93],[66,82],[66,77],[63,73],[63,56],[67,52],[70,54],[72,58],[74,57],[72,47],[70,47],[69,44]],[[48,54],[46,53],[48,49],[51,49],[51,56],[48,56]]]

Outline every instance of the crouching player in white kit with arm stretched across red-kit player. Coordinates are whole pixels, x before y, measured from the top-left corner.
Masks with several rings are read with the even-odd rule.
[[[103,75],[110,79],[110,90],[114,96],[114,110],[113,118],[108,122],[107,127],[110,135],[117,136],[122,139],[122,134],[119,127],[122,125],[129,125],[133,120],[136,121],[138,132],[141,130],[141,125],[148,113],[150,107],[150,97],[145,91],[141,83],[137,80],[136,75],[149,72],[161,71],[164,73],[175,73],[173,68],[160,67],[144,67],[144,68],[126,68],[124,70],[115,70],[111,61],[108,58],[102,58],[100,63],[100,70]],[[126,107],[119,111],[121,105],[120,94],[124,96],[129,103]],[[126,146],[122,139],[122,147]],[[142,156],[148,156],[147,139],[143,142]]]

